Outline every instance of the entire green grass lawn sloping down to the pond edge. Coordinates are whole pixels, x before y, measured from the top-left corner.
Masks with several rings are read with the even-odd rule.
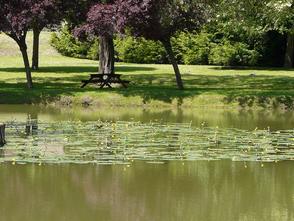
[[[179,65],[184,91],[177,90],[172,65],[116,63],[128,89],[98,89],[81,80],[98,72],[98,61],[65,57],[49,45],[49,33],[41,33],[40,70],[32,71],[35,89],[27,89],[24,64],[16,43],[0,34],[1,104],[73,104],[122,106],[188,106],[226,108],[293,108],[294,70],[246,67],[223,70],[217,66]],[[32,33],[28,34],[31,59]],[[256,76],[250,76],[257,72]],[[188,74],[184,74],[188,73]],[[234,76],[239,75],[239,76]]]

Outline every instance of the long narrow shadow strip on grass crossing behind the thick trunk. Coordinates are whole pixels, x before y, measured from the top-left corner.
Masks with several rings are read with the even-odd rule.
[[[132,71],[154,71],[154,67],[132,67],[132,66],[117,66],[115,67],[116,72],[132,72]],[[24,67],[6,67],[0,68],[3,72],[25,72]],[[61,66],[61,67],[39,67],[39,70],[31,71],[36,73],[56,73],[56,74],[66,74],[66,73],[98,73],[98,66],[86,66],[86,67],[75,67],[75,66]]]

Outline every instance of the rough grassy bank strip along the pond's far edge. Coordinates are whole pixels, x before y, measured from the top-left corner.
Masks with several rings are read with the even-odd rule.
[[[36,91],[38,92],[38,91]],[[93,94],[92,94],[93,95]],[[17,95],[0,92],[0,104],[54,105],[54,106],[90,106],[90,107],[158,107],[158,108],[215,108],[215,109],[294,109],[294,97],[291,96],[236,96],[195,95],[186,98],[165,97],[164,99],[144,100],[139,95],[118,95],[107,91],[99,93],[78,93],[76,95],[48,96],[38,93]],[[11,99],[10,99],[11,98]]]

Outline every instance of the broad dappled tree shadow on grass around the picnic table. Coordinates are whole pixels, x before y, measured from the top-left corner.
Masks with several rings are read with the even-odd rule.
[[[85,72],[84,67],[83,72]],[[87,69],[88,67],[86,67]],[[40,70],[41,71],[41,70]],[[52,71],[52,70],[51,70]],[[56,80],[60,77],[59,80]],[[195,95],[222,96],[223,103],[237,102],[240,106],[252,106],[254,103],[268,105],[269,102],[280,102],[292,107],[294,98],[294,81],[288,76],[238,76],[223,77],[214,75],[183,75],[185,90],[177,90],[175,76],[169,73],[123,75],[122,80],[131,80],[128,89],[122,86],[116,88],[98,89],[88,84],[80,88],[81,80],[87,75],[71,75],[56,77],[34,77],[35,89],[26,89],[26,83],[13,82],[12,79],[0,81],[0,103],[51,103],[61,96],[75,96],[76,93],[101,92],[119,94],[126,98],[140,96],[143,103],[153,100],[182,105],[185,98]],[[95,96],[96,96],[95,95]],[[105,95],[104,95],[105,96]],[[268,100],[269,97],[280,96],[278,100]],[[274,104],[271,104],[273,106]]]

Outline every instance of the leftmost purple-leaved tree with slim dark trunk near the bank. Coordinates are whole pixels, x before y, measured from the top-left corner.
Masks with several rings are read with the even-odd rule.
[[[28,0],[0,0],[0,32],[4,32],[19,45],[29,89],[34,88],[26,45],[26,34],[32,22],[30,9],[31,1]]]

